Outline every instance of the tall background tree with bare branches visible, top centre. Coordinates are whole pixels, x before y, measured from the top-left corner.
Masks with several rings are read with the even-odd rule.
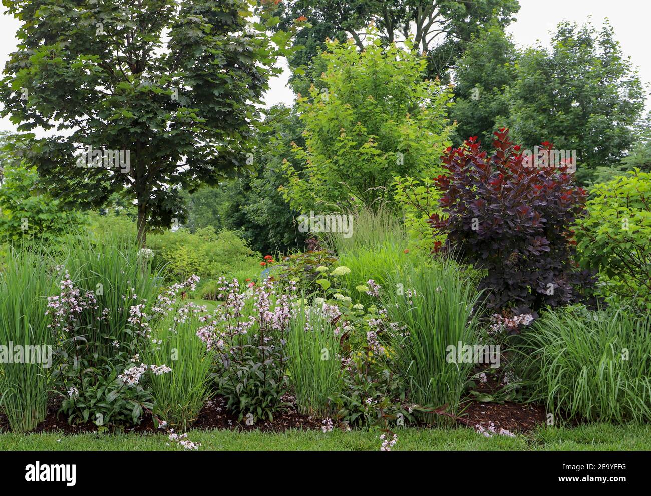
[[[324,50],[327,38],[344,40],[352,37],[363,49],[368,44],[369,23],[377,27],[383,46],[406,39],[415,51],[427,60],[427,74],[432,78],[447,76],[464,52],[473,33],[489,20],[506,26],[515,20],[518,0],[482,0],[473,2],[449,0],[331,0],[262,1],[260,10],[270,11],[281,21],[273,29],[286,29],[299,16],[307,16],[309,27],[296,36],[300,46],[289,64],[295,75],[290,79],[294,90],[304,87],[303,68],[312,79],[318,79],[318,53]],[[314,70],[316,65],[316,70]]]

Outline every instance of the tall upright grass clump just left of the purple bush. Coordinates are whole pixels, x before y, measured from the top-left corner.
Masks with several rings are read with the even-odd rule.
[[[392,322],[404,326],[393,348],[406,378],[411,402],[458,413],[473,363],[448,361],[447,347],[473,346],[477,340],[480,295],[475,281],[454,261],[428,266],[408,264],[393,271],[380,297]],[[426,415],[430,422],[442,417]]]

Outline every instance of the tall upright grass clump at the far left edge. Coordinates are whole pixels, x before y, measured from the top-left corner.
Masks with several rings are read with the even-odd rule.
[[[0,270],[0,409],[14,432],[27,432],[45,419],[50,387],[51,349],[55,335],[49,329],[47,296],[55,290],[48,260],[30,249],[11,249]],[[23,360],[10,346],[21,346]],[[27,346],[38,347],[40,363]],[[46,356],[42,356],[45,351]],[[45,360],[44,360],[45,359]]]

